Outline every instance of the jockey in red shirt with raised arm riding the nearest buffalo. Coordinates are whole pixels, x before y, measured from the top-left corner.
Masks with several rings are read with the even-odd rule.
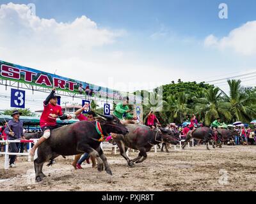
[[[40,126],[43,131],[43,136],[36,142],[35,146],[30,150],[30,155],[34,156],[35,150],[39,145],[51,136],[52,129],[60,128],[61,125],[57,124],[56,120],[60,117],[61,120],[72,119],[71,115],[64,115],[62,113],[62,108],[58,105],[58,98],[56,96],[56,89],[53,88],[51,94],[44,101],[44,111],[40,118]]]

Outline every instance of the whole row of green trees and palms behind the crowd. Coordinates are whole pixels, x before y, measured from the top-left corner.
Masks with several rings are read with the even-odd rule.
[[[151,98],[144,98],[143,118],[150,112],[156,111],[160,122],[166,124],[175,122],[182,124],[186,115],[196,114],[198,121],[205,125],[220,117],[225,123],[232,123],[237,120],[249,123],[256,119],[256,87],[241,87],[240,80],[228,80],[230,93],[223,93],[218,87],[201,82],[182,82],[178,84],[163,85],[163,102],[155,104],[157,95],[155,90]],[[147,91],[142,91],[147,96]],[[143,94],[141,96],[143,96]],[[146,103],[145,103],[146,101]],[[157,108],[159,110],[157,110]],[[189,118],[190,118],[189,116]]]

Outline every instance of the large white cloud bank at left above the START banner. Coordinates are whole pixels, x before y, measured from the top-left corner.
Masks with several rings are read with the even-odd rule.
[[[178,73],[185,75],[179,68],[159,66],[150,59],[141,61],[136,50],[115,49],[116,44],[122,44],[123,29],[99,28],[85,16],[65,23],[28,13],[24,4],[1,5],[1,60],[49,73],[57,69],[56,74],[63,77],[118,89],[118,85],[108,85],[108,78],[113,77],[126,85],[120,85],[122,91],[131,90],[132,83],[167,84],[177,80]]]

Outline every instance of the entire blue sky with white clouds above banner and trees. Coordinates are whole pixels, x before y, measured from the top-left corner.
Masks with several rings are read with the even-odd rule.
[[[29,3],[35,4],[35,15]],[[228,6],[227,19],[219,18],[220,3]],[[0,4],[2,61],[120,91],[152,89],[179,78],[213,81],[227,91],[225,80],[214,80],[240,75],[243,85],[256,85],[256,73],[246,75],[256,71],[254,0]]]

